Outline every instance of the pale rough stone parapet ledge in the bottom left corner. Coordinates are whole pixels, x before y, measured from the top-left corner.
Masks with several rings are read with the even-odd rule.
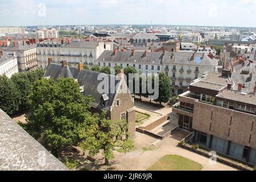
[[[68,171],[1,109],[0,121],[0,171]]]

